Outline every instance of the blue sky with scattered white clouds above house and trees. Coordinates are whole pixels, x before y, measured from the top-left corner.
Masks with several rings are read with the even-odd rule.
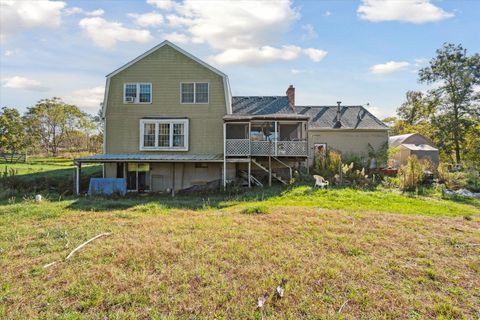
[[[395,114],[444,42],[480,52],[480,1],[0,0],[0,106],[61,97],[96,114],[105,75],[170,40],[233,95]]]

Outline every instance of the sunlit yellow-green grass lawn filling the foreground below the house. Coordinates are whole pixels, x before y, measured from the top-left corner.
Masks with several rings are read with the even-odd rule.
[[[309,187],[13,202],[0,205],[0,318],[479,316],[478,202]]]

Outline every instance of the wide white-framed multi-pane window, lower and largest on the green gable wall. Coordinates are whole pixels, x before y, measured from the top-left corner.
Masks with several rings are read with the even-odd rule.
[[[188,151],[188,119],[141,119],[140,150]]]

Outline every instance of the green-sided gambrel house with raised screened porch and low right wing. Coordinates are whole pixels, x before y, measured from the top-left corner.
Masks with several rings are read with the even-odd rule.
[[[327,148],[366,153],[388,141],[388,128],[362,106],[297,106],[284,96],[232,97],[228,76],[169,41],[107,75],[104,178],[128,191],[175,192],[288,183]]]

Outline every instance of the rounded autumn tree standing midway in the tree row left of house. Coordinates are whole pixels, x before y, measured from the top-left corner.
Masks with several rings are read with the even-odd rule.
[[[27,131],[38,139],[47,152],[58,155],[59,147],[69,135],[81,130],[87,123],[87,114],[60,98],[43,99],[28,108],[25,115]]]

